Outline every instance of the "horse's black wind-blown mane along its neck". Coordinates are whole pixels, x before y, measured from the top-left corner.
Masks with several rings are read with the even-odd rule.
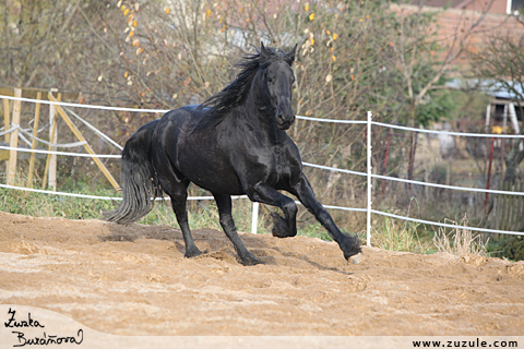
[[[286,53],[282,49],[266,48],[265,50],[270,51],[271,55],[262,55],[257,50],[257,53],[245,55],[235,64],[236,68],[241,69],[237,79],[223,91],[211,96],[200,105],[199,110],[207,108],[207,111],[192,132],[200,132],[221,123],[231,110],[246,101],[249,89],[251,88],[251,83],[259,69],[265,69],[274,61],[286,59]]]

